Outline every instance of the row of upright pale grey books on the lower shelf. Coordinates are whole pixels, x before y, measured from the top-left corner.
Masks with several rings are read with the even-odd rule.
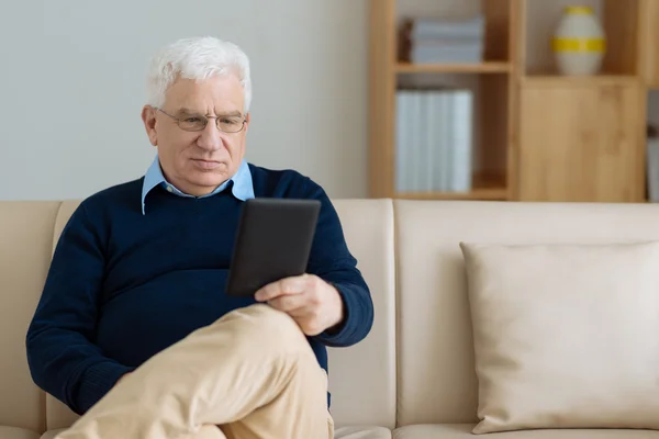
[[[469,192],[473,93],[467,89],[398,90],[396,192]]]

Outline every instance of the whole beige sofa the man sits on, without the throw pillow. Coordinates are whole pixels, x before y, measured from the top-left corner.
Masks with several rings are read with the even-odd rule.
[[[32,383],[24,336],[53,245],[76,205],[0,203],[0,439],[53,437],[75,419]],[[656,205],[391,200],[335,205],[376,305],[370,336],[330,353],[336,436],[350,439],[472,435],[478,383],[460,241],[659,238]],[[659,432],[550,429],[494,436],[659,438]]]

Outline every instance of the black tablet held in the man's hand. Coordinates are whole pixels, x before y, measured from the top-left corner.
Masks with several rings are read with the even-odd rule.
[[[245,201],[226,293],[250,296],[268,283],[303,274],[320,210],[317,200],[260,198]]]

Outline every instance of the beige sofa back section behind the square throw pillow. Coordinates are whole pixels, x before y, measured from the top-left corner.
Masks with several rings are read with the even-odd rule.
[[[659,239],[658,204],[394,201],[398,425],[477,421],[460,241]]]

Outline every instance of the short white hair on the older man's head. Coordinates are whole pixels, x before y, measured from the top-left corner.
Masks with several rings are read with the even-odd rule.
[[[206,79],[235,75],[245,92],[244,112],[252,103],[249,58],[234,43],[212,36],[182,38],[161,48],[152,59],[148,72],[148,104],[163,106],[165,93],[177,78]]]

